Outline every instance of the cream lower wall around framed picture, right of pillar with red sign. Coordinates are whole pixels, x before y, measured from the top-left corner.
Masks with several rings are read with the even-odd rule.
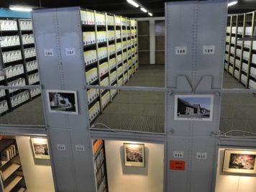
[[[219,159],[218,159],[218,166],[216,171],[215,191],[216,192],[255,192],[256,175],[222,172],[224,150],[225,150],[224,148],[219,149]]]

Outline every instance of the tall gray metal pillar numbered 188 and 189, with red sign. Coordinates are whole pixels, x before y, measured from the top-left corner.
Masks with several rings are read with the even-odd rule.
[[[165,4],[165,82],[180,91],[165,96],[165,191],[214,191],[221,96],[210,91],[222,85],[226,24],[227,0]],[[213,100],[211,118],[180,119],[177,98],[194,96]]]

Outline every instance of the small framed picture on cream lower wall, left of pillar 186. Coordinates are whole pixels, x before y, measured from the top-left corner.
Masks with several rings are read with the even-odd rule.
[[[45,138],[31,138],[31,145],[35,159],[50,160],[49,147]]]

